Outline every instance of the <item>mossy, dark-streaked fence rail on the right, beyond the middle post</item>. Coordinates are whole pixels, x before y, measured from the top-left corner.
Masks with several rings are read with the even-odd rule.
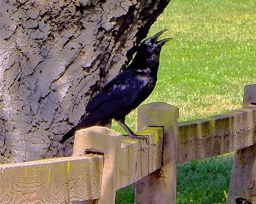
[[[179,123],[178,162],[225,154],[256,144],[256,105]]]

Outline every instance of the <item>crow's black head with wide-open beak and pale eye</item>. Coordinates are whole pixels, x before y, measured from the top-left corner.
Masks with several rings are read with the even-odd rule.
[[[173,38],[165,38],[163,40],[158,40],[167,30],[163,30],[155,34],[154,36],[147,38],[142,41],[138,47],[138,51],[132,61],[131,67],[140,66],[140,68],[147,67],[148,65],[159,64],[159,57],[161,48],[163,45]]]

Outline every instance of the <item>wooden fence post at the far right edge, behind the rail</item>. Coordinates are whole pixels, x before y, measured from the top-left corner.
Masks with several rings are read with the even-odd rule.
[[[242,107],[256,104],[256,84],[245,87]],[[256,118],[255,112],[253,118]],[[254,137],[256,137],[256,121],[254,119]],[[251,199],[256,203],[256,145],[235,151],[228,203],[234,203],[235,198]]]

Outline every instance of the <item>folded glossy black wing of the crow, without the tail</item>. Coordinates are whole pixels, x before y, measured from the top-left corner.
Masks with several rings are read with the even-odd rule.
[[[137,75],[136,71],[125,71],[111,80],[87,105],[86,110],[101,108],[129,107],[143,92],[146,79]]]

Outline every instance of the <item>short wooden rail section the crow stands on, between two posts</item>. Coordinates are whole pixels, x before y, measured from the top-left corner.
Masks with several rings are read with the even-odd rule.
[[[163,128],[149,127],[137,133],[149,136],[149,140],[131,138],[122,140],[117,171],[117,189],[128,186],[161,167]]]

